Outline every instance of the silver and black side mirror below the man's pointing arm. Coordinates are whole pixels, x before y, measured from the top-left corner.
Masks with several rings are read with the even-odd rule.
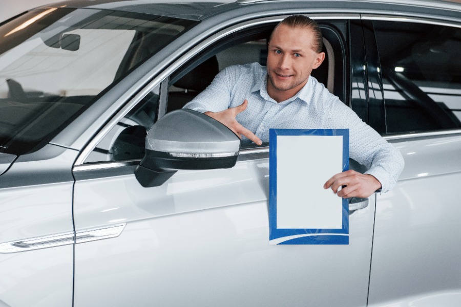
[[[163,116],[145,139],[145,156],[135,170],[143,187],[162,185],[178,169],[231,168],[240,139],[213,118],[190,109]]]

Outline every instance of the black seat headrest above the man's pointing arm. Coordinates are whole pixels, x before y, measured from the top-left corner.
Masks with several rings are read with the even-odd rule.
[[[176,81],[174,85],[181,89],[201,92],[206,89],[206,86],[213,81],[218,73],[218,59],[216,56],[212,56]]]

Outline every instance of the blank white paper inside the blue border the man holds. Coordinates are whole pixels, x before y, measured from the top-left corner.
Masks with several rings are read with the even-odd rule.
[[[342,163],[342,136],[277,136],[277,228],[341,229],[343,200],[323,185]]]

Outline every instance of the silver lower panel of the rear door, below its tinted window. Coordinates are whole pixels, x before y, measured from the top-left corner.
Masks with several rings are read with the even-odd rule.
[[[395,142],[395,141],[394,141]],[[379,195],[371,264],[371,306],[457,306],[461,301],[461,137],[396,141],[405,169]]]

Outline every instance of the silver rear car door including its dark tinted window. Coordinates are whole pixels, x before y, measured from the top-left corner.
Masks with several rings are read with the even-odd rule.
[[[367,54],[380,59],[375,80],[386,112],[380,132],[405,159],[397,185],[376,201],[369,305],[458,306],[461,24],[364,19],[374,35]]]

